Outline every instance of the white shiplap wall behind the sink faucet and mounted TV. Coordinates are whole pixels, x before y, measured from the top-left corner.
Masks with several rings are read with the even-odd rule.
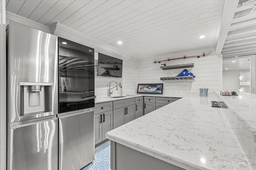
[[[95,60],[98,60],[98,53],[94,54]],[[122,59],[122,58],[121,58]],[[117,83],[122,83],[123,94],[135,94],[136,93],[136,77],[137,77],[137,64],[136,59],[130,57],[130,59],[123,60],[123,72],[122,78],[116,77],[103,77],[97,76],[95,72],[95,95],[97,98],[108,96],[108,84],[111,81],[116,81]],[[111,83],[111,88],[115,86],[115,83]],[[112,96],[120,95],[120,88],[116,91],[113,88]]]

